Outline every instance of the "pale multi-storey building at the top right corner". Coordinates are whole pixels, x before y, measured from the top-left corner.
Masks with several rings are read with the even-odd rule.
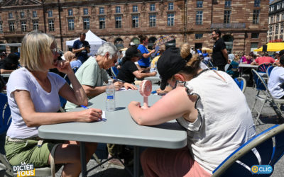
[[[284,1],[274,0],[269,5],[267,42],[282,42],[284,30]]]

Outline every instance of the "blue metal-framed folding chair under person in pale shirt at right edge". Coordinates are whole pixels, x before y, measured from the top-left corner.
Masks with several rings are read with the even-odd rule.
[[[253,107],[251,108],[251,112],[253,112],[253,109],[254,109],[258,113],[256,117],[256,122],[258,121],[258,118],[261,115],[261,111],[263,109],[264,104],[267,102],[272,104],[272,108],[275,111],[276,115],[278,115],[278,118],[283,119],[284,114],[280,110],[280,105],[284,103],[284,99],[273,98],[273,96],[271,95],[271,92],[268,90],[268,87],[266,86],[266,82],[263,80],[261,75],[258,74],[258,72],[256,72],[256,70],[254,69],[251,69],[251,71],[253,73],[253,81],[255,82],[256,89],[258,90],[258,93],[256,94],[256,100],[254,101]],[[261,95],[261,93],[263,94]],[[260,110],[257,110],[256,108],[254,108],[257,100],[261,101],[262,103]]]

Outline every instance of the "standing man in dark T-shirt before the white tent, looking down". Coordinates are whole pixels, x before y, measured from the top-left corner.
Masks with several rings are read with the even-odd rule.
[[[72,52],[75,53],[78,60],[84,63],[88,59],[89,42],[86,39],[86,33],[80,33],[80,39],[73,43]]]

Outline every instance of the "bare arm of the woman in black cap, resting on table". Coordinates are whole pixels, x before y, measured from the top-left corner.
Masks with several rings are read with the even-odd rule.
[[[187,96],[185,87],[178,87],[163,96],[151,108],[140,108],[140,103],[132,101],[129,113],[138,125],[158,125],[185,115],[185,119],[194,122],[197,118],[195,99]]]

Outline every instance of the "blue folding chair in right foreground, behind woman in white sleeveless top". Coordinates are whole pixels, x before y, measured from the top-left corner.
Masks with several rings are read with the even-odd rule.
[[[270,165],[274,169],[284,153],[283,139],[284,124],[268,128],[230,154],[214,169],[212,176],[256,176],[251,172],[255,165]],[[271,173],[261,176],[271,176]]]

